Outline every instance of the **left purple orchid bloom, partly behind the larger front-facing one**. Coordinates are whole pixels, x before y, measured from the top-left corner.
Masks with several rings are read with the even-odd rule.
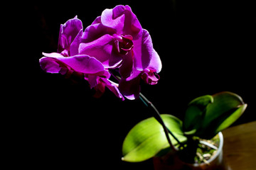
[[[110,72],[103,64],[89,55],[79,55],[78,47],[82,38],[82,22],[75,18],[68,20],[60,25],[60,35],[58,40],[57,52],[44,53],[45,57],[40,59],[41,68],[45,72],[60,73],[66,77],[76,74],[86,79],[91,88],[95,88],[96,97],[102,95],[105,86],[110,89],[117,97],[124,97],[117,89],[117,84],[109,80]]]

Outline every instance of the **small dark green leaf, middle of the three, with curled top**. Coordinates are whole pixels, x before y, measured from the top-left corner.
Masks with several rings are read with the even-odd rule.
[[[209,103],[213,103],[213,96],[206,95],[195,98],[188,104],[183,121],[183,130],[186,135],[193,135],[200,128]]]

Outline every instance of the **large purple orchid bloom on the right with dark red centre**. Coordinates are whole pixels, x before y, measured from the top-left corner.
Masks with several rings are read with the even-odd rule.
[[[82,34],[79,54],[95,57],[105,68],[119,68],[119,90],[131,100],[139,96],[141,78],[156,84],[154,73],[161,71],[151,36],[129,6],[105,9]]]

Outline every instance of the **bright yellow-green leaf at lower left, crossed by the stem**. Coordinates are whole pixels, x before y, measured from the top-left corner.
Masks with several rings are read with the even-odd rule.
[[[178,140],[181,142],[186,141],[186,137],[183,136],[182,132],[181,120],[173,115],[161,115],[161,118]],[[171,142],[176,145],[176,140],[171,135],[169,137]],[[126,162],[142,162],[154,157],[161,149],[166,149],[167,147],[169,147],[169,143],[164,129],[155,118],[148,118],[135,125],[125,137],[122,147],[124,155],[122,160]]]

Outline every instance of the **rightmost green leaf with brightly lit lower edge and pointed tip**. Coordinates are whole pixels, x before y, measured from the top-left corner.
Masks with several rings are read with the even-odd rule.
[[[213,103],[206,107],[201,130],[195,135],[210,139],[234,123],[245,111],[246,106],[237,94],[225,91],[213,95]]]

